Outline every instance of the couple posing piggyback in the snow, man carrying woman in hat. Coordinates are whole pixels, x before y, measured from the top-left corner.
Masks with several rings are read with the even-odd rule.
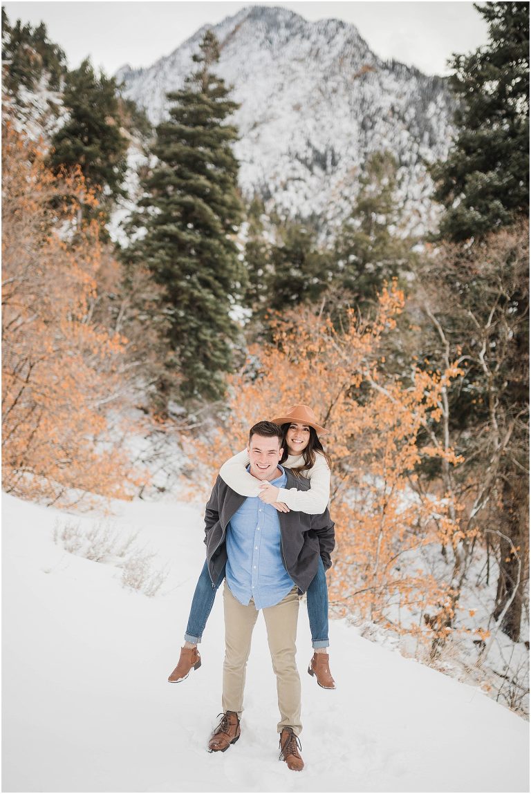
[[[223,715],[209,750],[225,752],[240,736],[246,664],[262,609],[277,676],[280,757],[295,770],[304,766],[297,739],[302,726],[295,661],[299,599],[304,592],[314,649],[308,673],[321,687],[335,688],[328,666],[325,576],[335,545],[334,524],[327,507],[329,459],[317,432],[327,431],[317,424],[312,409],[293,406],[272,422],[254,425],[247,449],[223,464],[205,512],[207,560],[192,599],[180,659],[169,676],[171,683],[177,683],[192,667],[200,668],[197,644],[225,579]]]

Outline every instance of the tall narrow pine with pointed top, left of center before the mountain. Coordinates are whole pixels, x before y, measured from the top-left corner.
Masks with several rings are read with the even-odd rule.
[[[169,121],[157,127],[158,164],[144,180],[145,198],[132,228],[145,227],[124,256],[145,264],[165,287],[169,340],[183,376],[181,397],[219,399],[231,371],[238,328],[231,302],[242,276],[234,233],[241,220],[237,129],[223,123],[238,108],[211,68],[218,42],[205,33],[197,71],[168,94]]]

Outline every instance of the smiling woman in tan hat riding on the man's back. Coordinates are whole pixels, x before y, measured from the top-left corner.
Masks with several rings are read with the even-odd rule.
[[[242,496],[258,496],[262,502],[273,505],[278,511],[293,510],[320,515],[326,510],[330,495],[330,458],[324,452],[317,433],[324,434],[327,430],[316,422],[312,409],[305,405],[294,405],[281,417],[271,421],[281,425],[284,434],[281,464],[285,464],[294,474],[307,477],[311,485],[310,490],[288,491],[285,488],[275,488],[269,482],[258,483],[247,471],[249,457],[246,449],[224,463],[219,475],[233,491]],[[169,676],[170,683],[175,684],[187,678],[192,667],[200,668],[201,657],[197,645],[201,642],[215,594],[224,578],[223,569],[219,580],[216,584],[212,584],[205,561],[192,599],[192,609],[184,634],[184,646],[180,651],[179,663]],[[320,687],[335,689],[328,666],[328,588],[321,558],[316,576],[308,588],[306,603],[314,649],[312,660],[308,665],[308,673],[316,676]]]

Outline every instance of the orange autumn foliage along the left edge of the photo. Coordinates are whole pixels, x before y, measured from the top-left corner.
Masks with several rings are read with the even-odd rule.
[[[57,178],[9,122],[2,147],[3,487],[72,503],[127,498],[138,484],[107,422],[126,340],[87,311],[101,250],[81,175]]]

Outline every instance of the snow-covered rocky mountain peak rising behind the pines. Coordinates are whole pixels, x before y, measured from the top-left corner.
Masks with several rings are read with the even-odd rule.
[[[148,69],[118,71],[152,121],[165,116],[166,92],[195,66],[205,29]],[[354,25],[309,22],[275,6],[248,6],[213,30],[219,74],[241,103],[234,151],[247,196],[257,191],[268,209],[337,222],[351,209],[366,156],[389,149],[410,230],[432,226],[426,164],[446,156],[452,131],[443,79],[380,60]]]

